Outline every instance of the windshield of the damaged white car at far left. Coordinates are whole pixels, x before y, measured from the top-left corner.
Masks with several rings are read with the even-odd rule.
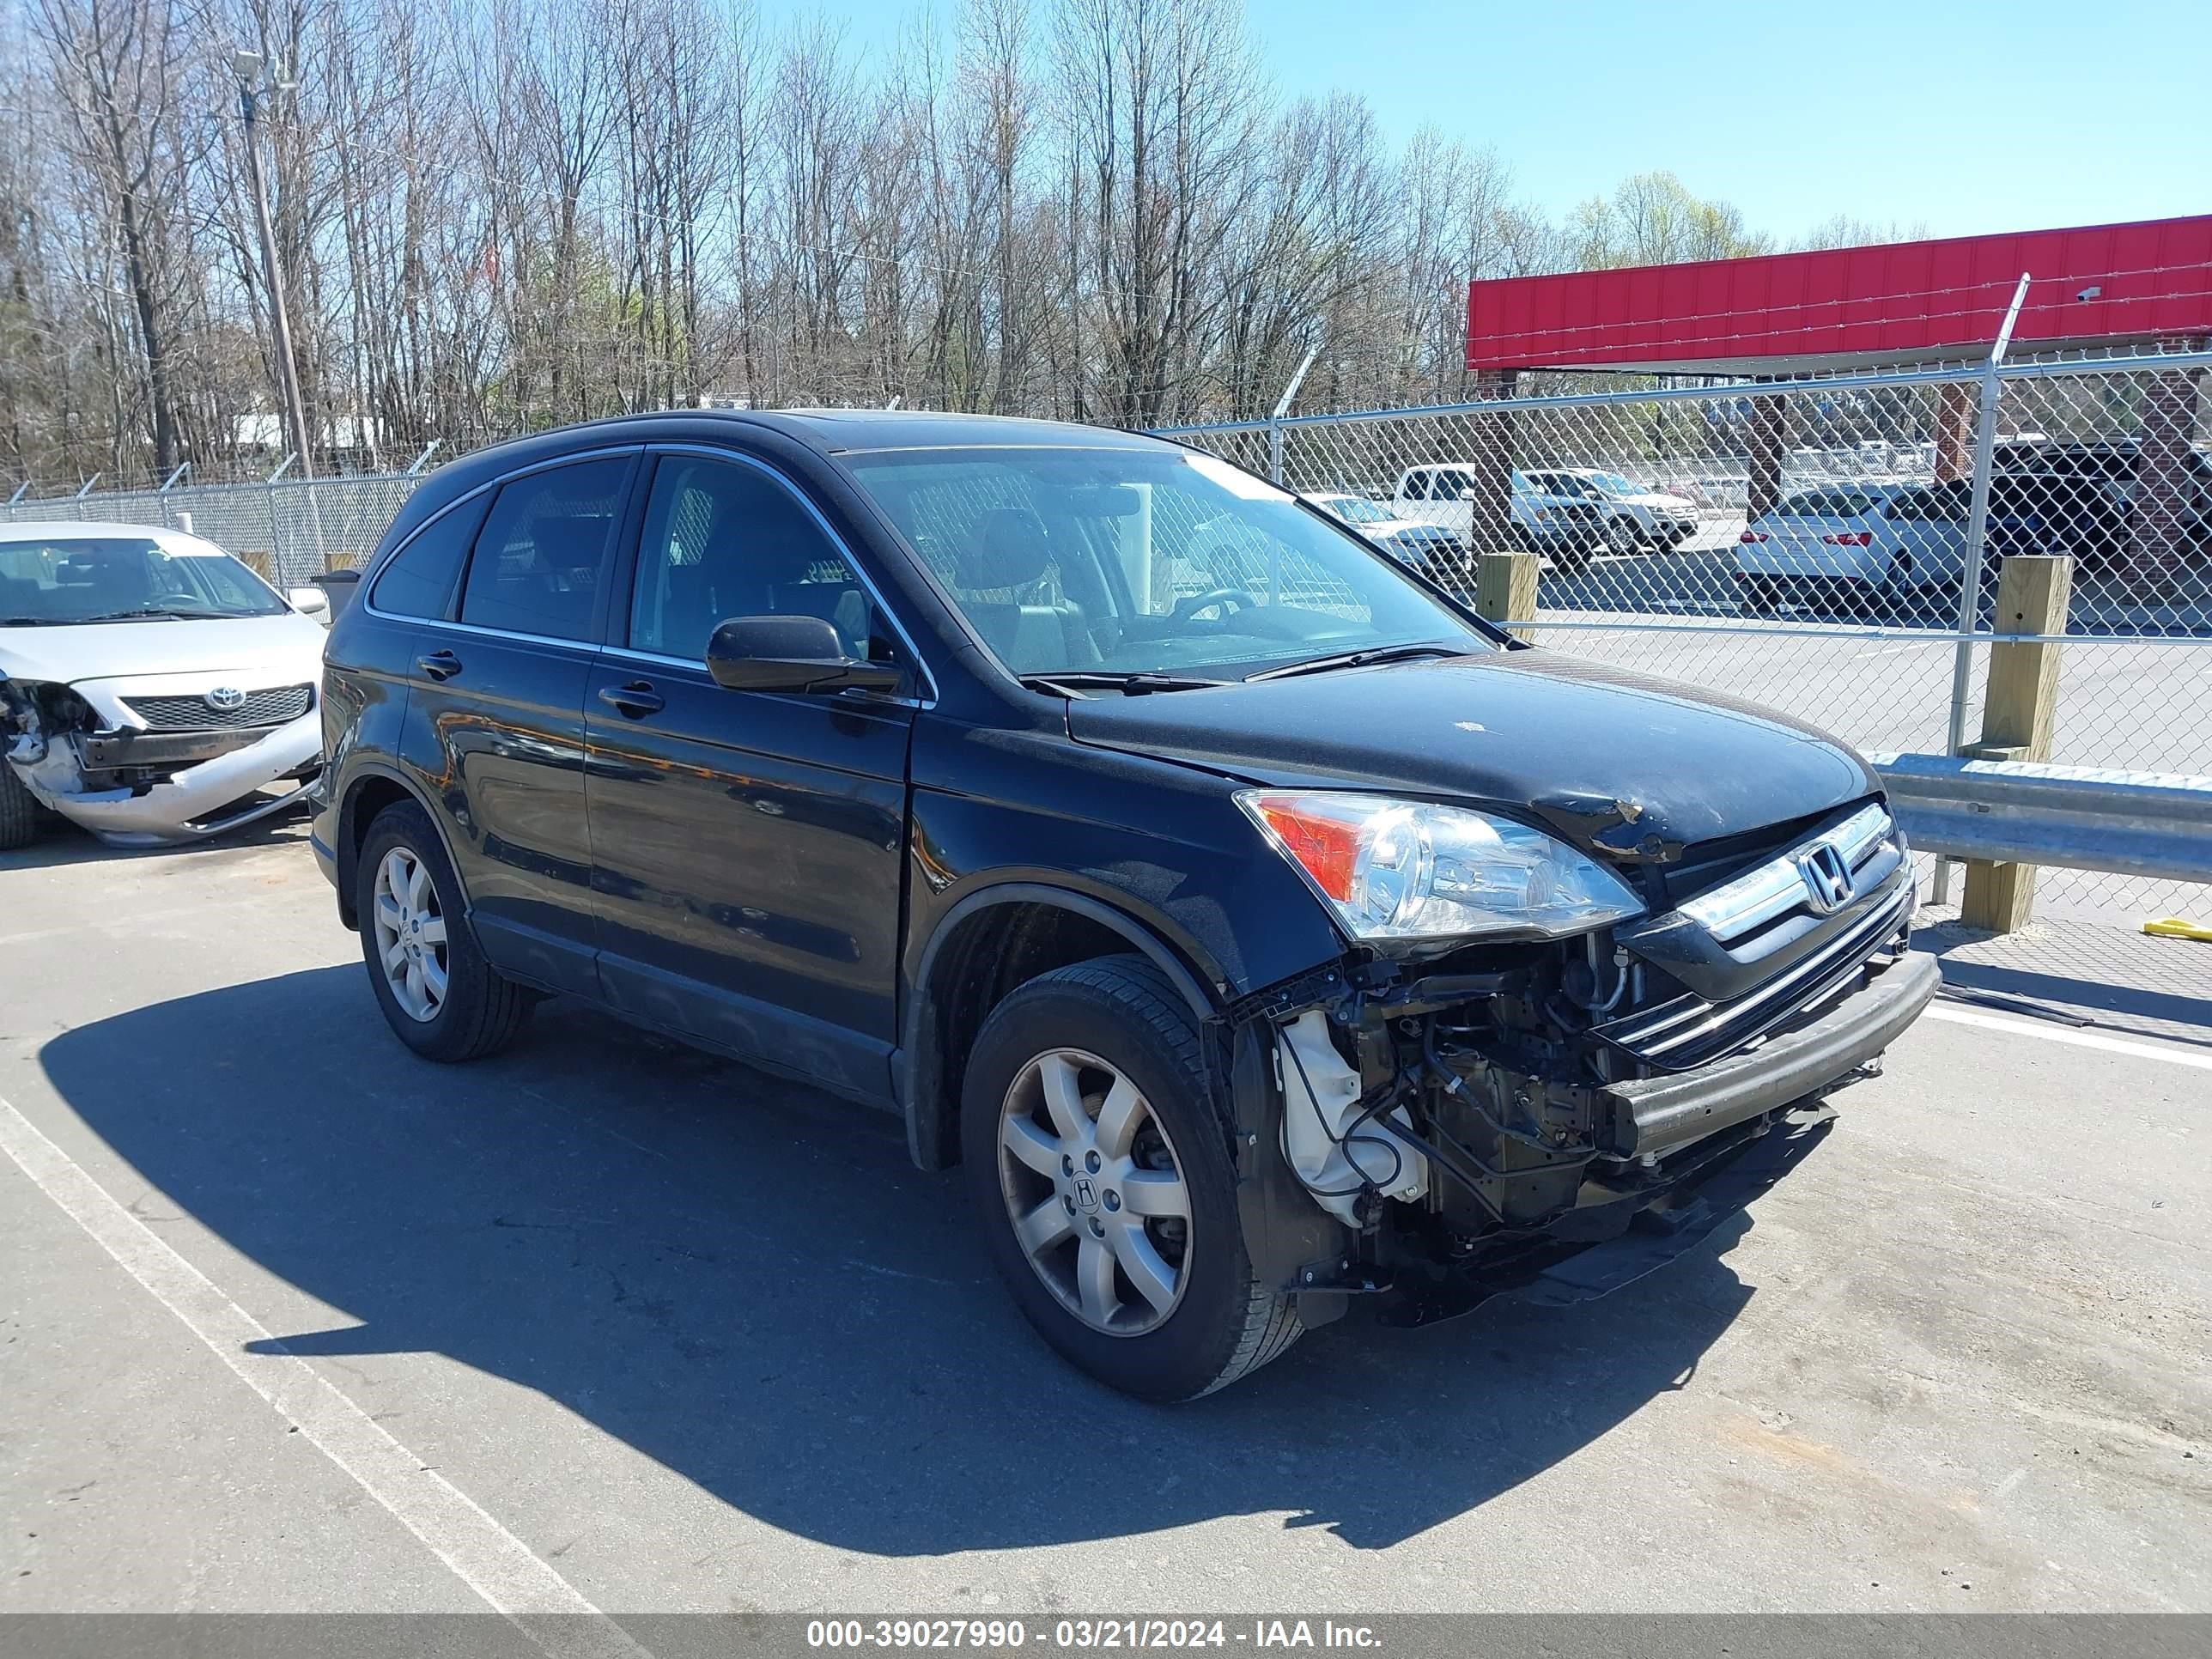
[[[228,553],[173,553],[135,535],[0,542],[0,626],[283,611],[274,588]]]

